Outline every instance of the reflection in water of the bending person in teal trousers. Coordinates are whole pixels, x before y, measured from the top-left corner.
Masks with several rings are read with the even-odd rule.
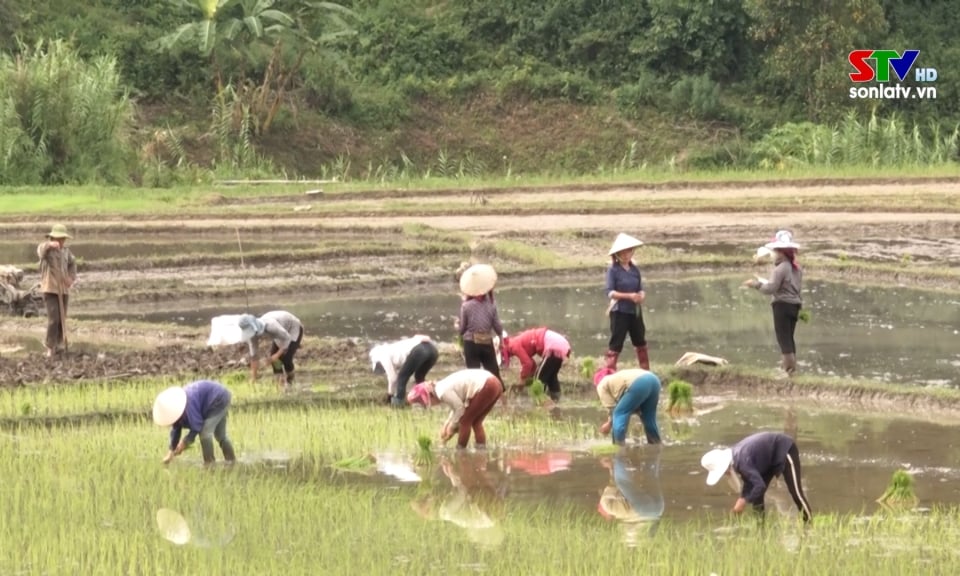
[[[651,534],[656,530],[664,510],[660,452],[659,446],[649,449],[642,454],[643,460],[638,465],[623,451],[614,457],[612,465],[609,459],[604,459],[613,485],[607,486],[600,496],[597,510],[601,515],[630,524],[650,522]]]

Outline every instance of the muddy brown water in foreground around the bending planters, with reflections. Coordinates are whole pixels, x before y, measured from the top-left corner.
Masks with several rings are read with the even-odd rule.
[[[411,466],[404,474],[397,472],[403,468],[403,457],[381,455],[389,458],[391,466],[382,466],[380,474],[369,479],[347,474],[344,481],[411,486],[415,502],[456,502],[466,496],[471,502],[482,503],[481,509],[491,507],[485,510],[491,517],[502,514],[502,508],[509,511],[515,502],[564,502],[585,515],[597,515],[601,496],[605,495],[605,504],[621,502],[619,508],[609,504],[602,508],[613,518],[626,519],[629,514],[633,519],[688,521],[706,513],[724,513],[737,496],[726,480],[714,487],[705,485],[706,472],[699,464],[703,453],[769,430],[786,432],[797,439],[802,483],[815,513],[876,512],[875,500],[883,494],[893,472],[902,468],[914,476],[921,508],[960,504],[960,469],[956,467],[960,461],[960,429],[955,427],[742,402],[725,404],[722,399],[699,399],[697,404],[698,411],[705,413],[685,421],[673,421],[661,414],[666,443],[659,448],[631,439],[625,450],[610,455],[593,451],[606,441],[536,450],[520,446],[496,447],[487,452],[471,450],[438,459],[441,465],[432,473],[417,469],[419,481],[416,476],[407,477]],[[556,418],[577,423],[596,425],[602,420],[596,408],[586,405],[555,412]],[[633,425],[632,436],[642,436],[639,423]],[[495,423],[488,425],[488,433],[491,430],[495,430]],[[427,480],[432,480],[429,496],[420,486]],[[466,494],[453,487],[461,484]],[[629,506],[624,507],[623,502]],[[768,491],[766,504],[768,514],[796,515],[795,505],[779,480]]]

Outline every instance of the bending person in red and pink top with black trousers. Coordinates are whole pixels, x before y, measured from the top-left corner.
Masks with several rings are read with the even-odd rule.
[[[503,339],[503,366],[510,365],[510,358],[520,361],[520,383],[518,387],[528,386],[534,378],[547,387],[550,399],[560,400],[560,368],[563,361],[570,357],[570,342],[560,334],[548,328],[531,328]],[[539,363],[534,357],[540,356]]]

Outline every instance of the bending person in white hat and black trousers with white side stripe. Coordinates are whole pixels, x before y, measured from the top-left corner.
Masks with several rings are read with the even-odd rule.
[[[727,471],[736,482],[743,480],[740,497],[733,505],[733,512],[740,514],[747,504],[762,513],[764,495],[770,482],[782,476],[804,522],[813,517],[810,504],[803,493],[800,481],[800,450],[793,438],[782,432],[758,432],[736,443],[733,448],[716,448],[700,459],[707,474],[707,486],[720,481]]]

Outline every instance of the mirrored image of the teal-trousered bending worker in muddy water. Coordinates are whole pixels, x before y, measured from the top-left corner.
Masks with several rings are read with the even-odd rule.
[[[600,459],[610,471],[610,480],[600,495],[597,511],[620,523],[628,546],[653,536],[660,525],[665,508],[660,489],[662,451],[662,445],[624,448],[613,458]]]

